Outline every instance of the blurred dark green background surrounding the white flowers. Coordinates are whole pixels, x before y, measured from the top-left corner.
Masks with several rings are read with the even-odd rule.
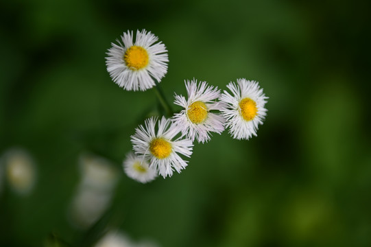
[[[164,247],[371,246],[370,10],[367,0],[1,1],[0,156],[27,152],[36,181],[16,193],[3,162],[0,246],[88,246],[106,227]],[[137,29],[169,50],[160,86],[171,102],[184,79],[259,81],[270,99],[258,137],[215,134],[165,180],[125,176],[130,135],[156,95],[120,89],[105,53]],[[119,171],[91,228],[68,213],[84,153]]]

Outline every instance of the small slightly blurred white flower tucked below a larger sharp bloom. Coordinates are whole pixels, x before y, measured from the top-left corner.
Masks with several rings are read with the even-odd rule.
[[[123,161],[123,169],[128,177],[141,183],[150,182],[158,175],[155,169],[149,167],[145,159],[139,158],[132,152],[126,155],[125,161]]]

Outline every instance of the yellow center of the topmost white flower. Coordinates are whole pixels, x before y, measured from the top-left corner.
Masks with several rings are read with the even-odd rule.
[[[133,45],[126,50],[123,60],[125,60],[126,66],[135,71],[146,67],[149,58],[143,47]]]

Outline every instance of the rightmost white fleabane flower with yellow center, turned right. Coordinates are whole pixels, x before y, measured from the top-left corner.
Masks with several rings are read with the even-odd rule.
[[[229,132],[234,139],[250,139],[252,134],[256,136],[258,125],[263,124],[267,115],[264,105],[268,97],[265,97],[258,82],[243,78],[237,79],[237,84],[230,82],[227,85],[232,95],[227,91],[222,93],[220,100],[228,106],[221,111],[227,119],[226,127],[230,128]]]

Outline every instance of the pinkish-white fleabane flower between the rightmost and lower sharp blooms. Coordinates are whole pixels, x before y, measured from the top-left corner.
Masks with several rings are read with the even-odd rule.
[[[206,82],[198,83],[197,80],[191,82],[187,80],[185,86],[188,99],[182,95],[175,95],[174,101],[174,104],[182,106],[184,110],[174,115],[172,120],[187,138],[207,142],[210,140],[210,132],[220,134],[224,131],[224,117],[210,112],[224,109],[224,103],[216,102],[220,90],[208,86]]]

